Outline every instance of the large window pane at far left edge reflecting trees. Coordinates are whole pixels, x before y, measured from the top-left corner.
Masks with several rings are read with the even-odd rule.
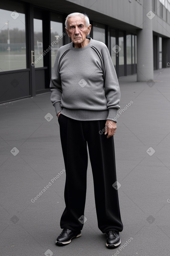
[[[25,14],[11,13],[0,9],[0,71],[26,68]]]

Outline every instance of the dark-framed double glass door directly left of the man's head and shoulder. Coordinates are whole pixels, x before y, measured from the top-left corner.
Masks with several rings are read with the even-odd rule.
[[[36,94],[49,91],[54,60],[63,45],[63,17],[48,10],[34,8],[33,17],[34,51],[31,51],[35,72]]]

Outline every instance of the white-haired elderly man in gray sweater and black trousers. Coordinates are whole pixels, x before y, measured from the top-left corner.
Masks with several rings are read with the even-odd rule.
[[[123,229],[118,191],[112,186],[116,182],[113,135],[120,108],[119,83],[106,45],[88,37],[87,15],[72,13],[65,26],[72,42],[59,48],[50,83],[66,170],[63,231],[56,244],[66,245],[81,236],[88,144],[98,227],[106,233],[106,246],[115,248],[121,243]]]

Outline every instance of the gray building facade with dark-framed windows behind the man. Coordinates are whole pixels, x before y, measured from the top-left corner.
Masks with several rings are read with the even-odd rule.
[[[0,3],[0,103],[49,92],[58,48],[70,43],[65,18],[89,16],[118,77],[170,67],[170,0],[6,0]]]

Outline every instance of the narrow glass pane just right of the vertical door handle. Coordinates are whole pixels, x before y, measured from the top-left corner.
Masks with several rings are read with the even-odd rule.
[[[42,20],[34,18],[35,68],[43,67]]]

